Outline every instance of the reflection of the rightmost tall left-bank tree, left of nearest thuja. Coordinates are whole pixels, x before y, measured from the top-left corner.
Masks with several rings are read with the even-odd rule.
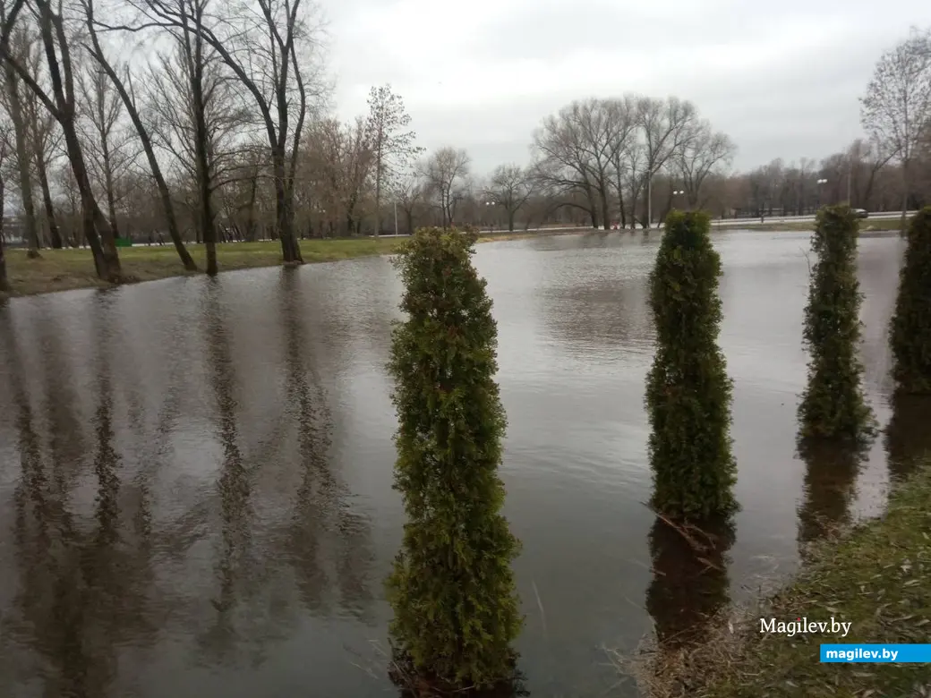
[[[297,427],[301,481],[285,536],[287,556],[297,572],[304,605],[311,611],[323,604],[328,586],[325,549],[335,538],[335,574],[344,611],[364,615],[371,608],[371,531],[364,516],[346,502],[344,484],[334,476],[329,460],[332,417],[323,387],[313,369],[305,342],[300,277],[283,275],[282,324],[288,371],[287,401]],[[307,366],[310,356],[311,366]]]

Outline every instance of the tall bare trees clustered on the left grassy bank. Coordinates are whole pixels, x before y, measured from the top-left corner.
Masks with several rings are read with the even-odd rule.
[[[4,133],[12,134],[3,175],[6,181],[16,170],[33,256],[41,223],[52,247],[87,245],[98,275],[119,280],[120,213],[138,211],[155,190],[161,210],[150,235],[167,231],[183,265],[196,268],[179,220],[187,209],[214,273],[218,208],[228,195],[221,190],[251,170],[254,185],[271,191],[284,262],[302,261],[296,172],[305,122],[329,88],[315,7],[302,0],[3,0],[0,21]],[[59,181],[49,181],[49,168],[61,170]],[[55,194],[73,204],[71,222],[80,218],[64,238],[55,184]],[[131,218],[123,220],[140,222]]]

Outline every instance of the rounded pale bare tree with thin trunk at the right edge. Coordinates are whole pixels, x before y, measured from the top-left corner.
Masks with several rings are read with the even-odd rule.
[[[911,164],[931,122],[931,32],[912,30],[876,63],[860,100],[863,128],[897,159],[902,175],[902,221],[911,195]]]

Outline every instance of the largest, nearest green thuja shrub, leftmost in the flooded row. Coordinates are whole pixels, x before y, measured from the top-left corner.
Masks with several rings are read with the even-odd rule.
[[[387,588],[396,653],[426,677],[480,687],[512,675],[523,619],[510,568],[519,542],[501,515],[497,327],[475,241],[421,230],[396,259],[408,319],[394,329],[390,370],[407,523]]]

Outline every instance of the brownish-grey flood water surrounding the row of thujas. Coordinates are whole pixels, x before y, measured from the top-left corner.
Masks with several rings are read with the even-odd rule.
[[[866,390],[894,418],[862,465],[795,455],[807,235],[714,243],[742,510],[701,584],[642,504],[658,235],[478,248],[533,696],[635,694],[606,648],[789,574],[819,522],[880,511],[931,446],[927,405],[889,404],[897,236],[860,242]],[[399,292],[371,258],[0,308],[3,695],[397,695],[383,580],[403,524],[385,372]]]

